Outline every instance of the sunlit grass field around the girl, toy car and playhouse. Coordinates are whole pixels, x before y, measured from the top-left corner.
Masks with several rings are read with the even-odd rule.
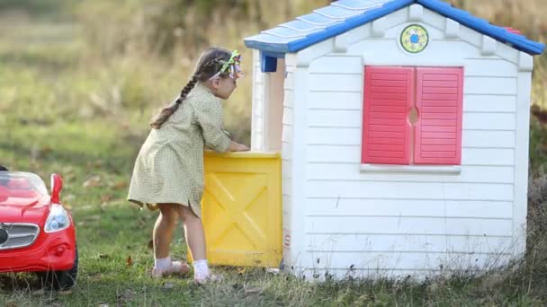
[[[24,3],[34,7],[40,4]],[[54,2],[60,3],[60,0]],[[309,9],[302,2],[299,6],[302,11]],[[42,6],[39,9],[48,15],[58,13]],[[148,132],[148,118],[172,99],[193,63],[187,55],[182,57],[183,61],[180,57],[141,54],[128,46],[125,48],[130,51],[112,55],[109,53],[112,46],[89,46],[81,25],[67,20],[68,23],[59,24],[43,19],[29,22],[23,18],[4,23],[10,26],[10,31],[0,32],[0,163],[13,170],[36,172],[46,180],[51,172],[63,176],[62,199],[76,221],[80,253],[77,286],[55,293],[40,290],[35,276],[2,275],[0,305],[539,306],[547,303],[544,290],[547,259],[543,256],[547,250],[544,235],[547,199],[543,199],[547,180],[534,184],[537,197],[531,203],[530,251],[525,264],[516,264],[514,268],[419,283],[335,282],[328,278],[323,283],[310,283],[259,268],[217,268],[226,280],[200,287],[193,285],[191,278],[151,279],[148,272],[153,256],[148,242],[156,214],[139,210],[125,197],[134,159]],[[101,29],[111,29],[112,24],[101,22],[98,22],[98,26],[104,26]],[[211,35],[224,42],[221,39],[235,41],[241,33],[234,31],[229,38],[220,38],[218,33]],[[245,58],[250,58],[250,54]],[[545,106],[545,56],[536,61],[534,103]],[[251,80],[250,74],[242,80],[237,95],[226,108],[228,129],[246,143]],[[539,175],[547,163],[544,158],[547,127],[535,119],[532,127],[532,166],[534,174]],[[179,227],[172,257],[185,259],[185,256],[183,231]]]

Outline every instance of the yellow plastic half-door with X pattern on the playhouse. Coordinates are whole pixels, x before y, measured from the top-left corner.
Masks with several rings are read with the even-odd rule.
[[[210,263],[277,268],[281,199],[279,153],[205,153],[202,223]]]

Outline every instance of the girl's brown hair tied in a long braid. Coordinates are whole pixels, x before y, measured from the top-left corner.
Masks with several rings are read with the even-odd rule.
[[[231,52],[222,48],[208,48],[203,51],[202,56],[198,60],[198,64],[195,66],[192,78],[181,91],[180,95],[171,104],[164,107],[159,113],[152,118],[150,127],[159,129],[173,113],[178,110],[181,103],[186,99],[189,92],[198,82],[205,82],[220,72],[220,68],[229,61]],[[220,77],[225,78],[229,75],[229,72],[224,72]]]

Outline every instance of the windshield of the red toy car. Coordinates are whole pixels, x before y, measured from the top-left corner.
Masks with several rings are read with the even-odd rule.
[[[39,198],[48,189],[37,175],[23,171],[0,171],[0,202],[7,198]]]

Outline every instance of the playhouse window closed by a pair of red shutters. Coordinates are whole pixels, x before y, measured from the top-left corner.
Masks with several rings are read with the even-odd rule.
[[[461,164],[462,67],[364,73],[363,164]]]

